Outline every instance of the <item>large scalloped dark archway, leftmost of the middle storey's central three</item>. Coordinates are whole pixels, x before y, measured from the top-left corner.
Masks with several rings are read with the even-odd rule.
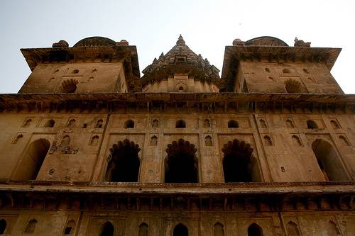
[[[138,152],[141,149],[134,142],[124,140],[110,148],[111,160],[107,164],[106,181],[137,182],[141,160]]]

